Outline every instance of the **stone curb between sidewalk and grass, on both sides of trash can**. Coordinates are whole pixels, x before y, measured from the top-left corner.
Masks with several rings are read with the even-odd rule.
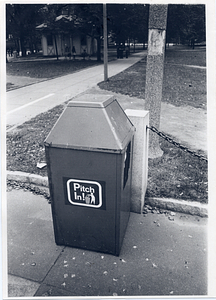
[[[20,171],[7,171],[7,180],[29,183],[38,188],[48,188],[48,177]],[[145,198],[145,204],[152,207],[172,210],[200,217],[208,217],[208,205],[197,201],[185,201],[172,198]]]

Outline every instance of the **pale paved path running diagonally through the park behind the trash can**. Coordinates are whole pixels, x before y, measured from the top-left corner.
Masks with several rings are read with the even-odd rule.
[[[146,51],[142,51],[131,55],[128,59],[109,62],[108,76],[111,77],[122,72],[146,54]],[[7,127],[22,124],[39,113],[77,96],[103,80],[103,65],[98,65],[73,74],[9,91],[6,95]]]

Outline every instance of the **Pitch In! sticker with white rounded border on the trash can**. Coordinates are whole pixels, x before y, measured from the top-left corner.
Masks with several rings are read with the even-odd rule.
[[[102,183],[90,180],[64,178],[64,184],[66,185],[67,201],[70,204],[102,208]]]

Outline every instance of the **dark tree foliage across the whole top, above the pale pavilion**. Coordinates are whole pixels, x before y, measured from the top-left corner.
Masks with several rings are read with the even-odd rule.
[[[108,36],[117,43],[144,43],[148,36],[146,4],[107,4]],[[58,19],[60,15],[64,18]],[[56,32],[71,33],[79,29],[98,42],[97,57],[103,39],[102,4],[7,4],[7,37],[12,35],[23,55],[26,47],[37,48],[39,32],[36,26],[46,23]],[[205,40],[205,5],[170,4],[168,6],[167,41],[189,43]]]

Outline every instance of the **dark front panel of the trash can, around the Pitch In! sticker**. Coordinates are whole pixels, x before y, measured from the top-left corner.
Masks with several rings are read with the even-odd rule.
[[[49,147],[57,240],[116,254],[116,155]],[[58,163],[57,163],[58,162]],[[105,209],[65,204],[63,177],[105,183]],[[57,221],[56,221],[57,220]],[[60,235],[60,237],[59,237]]]

